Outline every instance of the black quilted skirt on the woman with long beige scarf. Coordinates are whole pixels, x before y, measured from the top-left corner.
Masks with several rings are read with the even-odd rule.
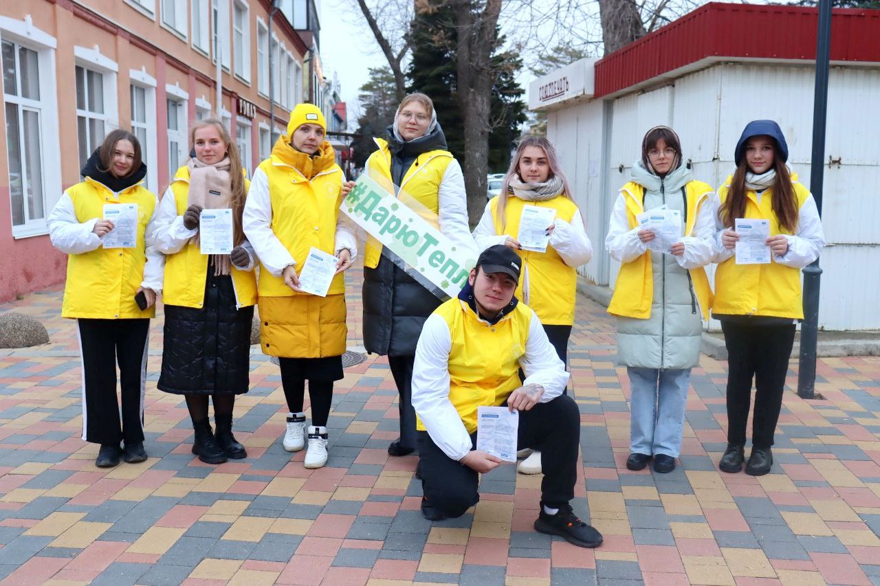
[[[165,305],[158,388],[174,394],[242,394],[250,385],[253,306],[236,309],[229,275],[209,264],[201,308]]]

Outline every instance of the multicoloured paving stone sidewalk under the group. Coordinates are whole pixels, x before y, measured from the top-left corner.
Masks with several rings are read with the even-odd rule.
[[[349,346],[362,341],[360,271],[348,275]],[[693,371],[681,465],[627,471],[626,370],[614,324],[581,297],[569,352],[581,408],[575,509],[605,534],[597,550],[536,533],[540,477],[504,465],[481,502],[430,524],[416,458],[389,458],[397,406],[385,359],[335,387],[325,468],[279,437],[278,368],[259,350],[235,431],[249,457],[190,453],[184,401],[156,389],[161,319],[150,334],[143,464],[93,465],[80,439],[80,361],[61,293],[0,305],[39,317],[52,343],[0,349],[0,579],[57,584],[880,584],[880,358],[819,361],[825,400],[799,399],[796,360],[761,478],[718,472],[727,363]],[[569,391],[571,392],[571,390]]]

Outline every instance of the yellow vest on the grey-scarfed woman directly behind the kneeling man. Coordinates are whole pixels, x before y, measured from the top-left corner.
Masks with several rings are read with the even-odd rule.
[[[511,234],[517,238],[519,220],[524,206],[553,208],[556,217],[571,223],[577,212],[574,201],[564,195],[548,201],[524,201],[515,195],[508,195],[504,216],[507,222],[502,228],[502,217],[498,214],[499,197],[492,198],[492,219],[495,221],[496,234]],[[523,272],[519,277],[516,296],[524,299],[523,288],[528,278],[528,305],[538,315],[541,323],[546,326],[571,326],[575,323],[575,300],[577,297],[577,272],[565,264],[565,260],[547,245],[546,253],[528,250],[517,251],[523,260]]]

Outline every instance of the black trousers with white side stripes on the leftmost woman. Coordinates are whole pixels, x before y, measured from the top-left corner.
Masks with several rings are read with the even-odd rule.
[[[149,319],[77,319],[83,356],[83,439],[143,442]],[[116,399],[116,364],[122,398]]]

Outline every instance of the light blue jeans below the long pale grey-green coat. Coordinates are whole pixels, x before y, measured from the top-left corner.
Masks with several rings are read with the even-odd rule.
[[[627,367],[629,375],[629,451],[678,458],[685,425],[691,369]]]

